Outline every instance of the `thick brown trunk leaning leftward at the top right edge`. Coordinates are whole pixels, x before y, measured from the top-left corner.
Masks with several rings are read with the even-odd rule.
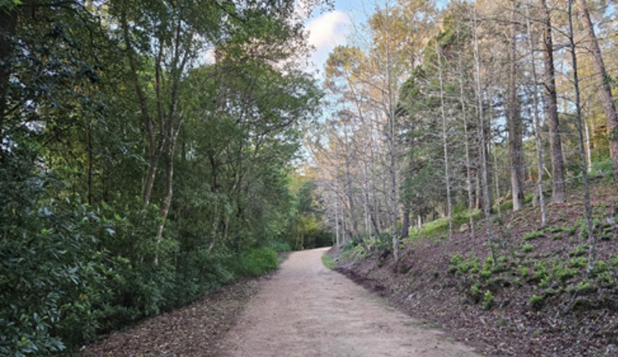
[[[594,25],[590,19],[588,5],[586,0],[576,0],[577,7],[580,8],[580,21],[584,27],[584,34],[588,42],[588,49],[593,55],[593,66],[595,68],[595,77],[599,85],[601,93],[601,101],[603,103],[603,111],[605,112],[605,120],[607,122],[607,130],[609,134],[609,146],[612,160],[614,161],[614,170],[617,172],[618,179],[618,115],[616,106],[613,102],[612,88],[608,81],[607,71],[601,55],[601,49],[595,36]]]

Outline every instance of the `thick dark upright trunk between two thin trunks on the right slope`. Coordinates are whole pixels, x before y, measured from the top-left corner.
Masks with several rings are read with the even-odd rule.
[[[558,125],[558,102],[556,100],[556,71],[553,67],[553,40],[551,36],[551,17],[545,0],[538,0],[542,15],[543,54],[543,92],[545,93],[545,122],[549,127],[549,146],[551,147],[551,202],[564,202],[564,162],[562,161],[562,143]],[[542,175],[539,172],[539,175]]]

